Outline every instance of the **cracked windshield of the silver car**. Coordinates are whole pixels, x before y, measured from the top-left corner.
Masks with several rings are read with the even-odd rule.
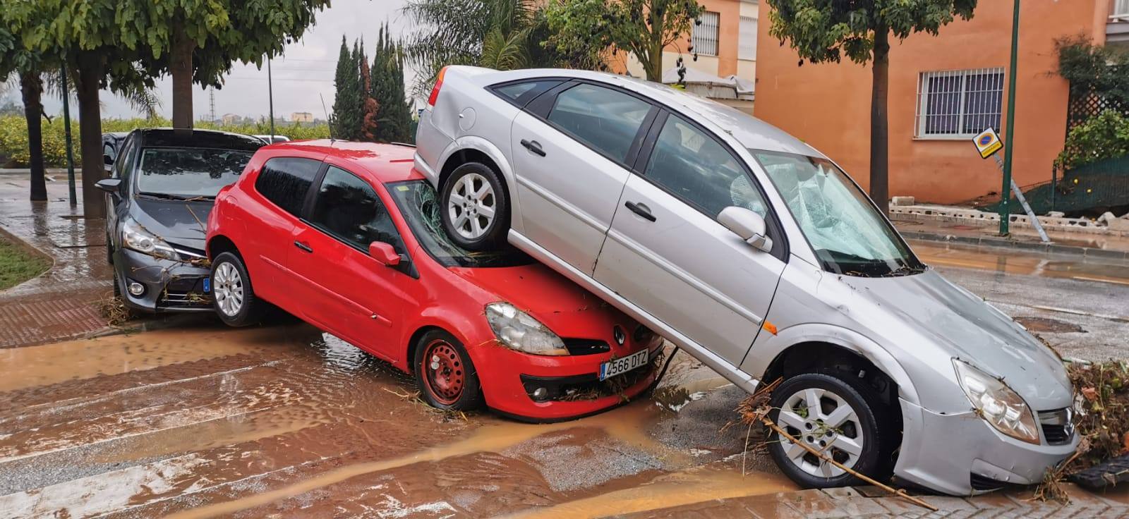
[[[866,194],[830,160],[750,151],[784,196],[825,270],[865,276],[925,270]]]

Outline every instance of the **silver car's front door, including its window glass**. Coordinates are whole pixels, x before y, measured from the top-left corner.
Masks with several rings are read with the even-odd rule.
[[[737,366],[761,329],[787,257],[753,248],[717,222],[736,205],[761,215],[747,169],[701,126],[662,114],[623,190],[595,279]],[[657,139],[656,139],[657,135]]]

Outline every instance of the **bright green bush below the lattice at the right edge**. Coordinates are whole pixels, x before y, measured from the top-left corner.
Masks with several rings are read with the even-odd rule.
[[[1129,116],[1106,109],[1073,129],[1054,159],[1059,170],[1129,156]]]

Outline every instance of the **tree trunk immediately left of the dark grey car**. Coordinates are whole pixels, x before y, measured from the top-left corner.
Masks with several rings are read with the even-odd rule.
[[[84,53],[77,58],[75,94],[78,96],[78,139],[82,153],[82,214],[86,218],[106,218],[105,196],[95,187],[106,175],[102,159],[102,105],[98,102],[105,65],[96,55]]]

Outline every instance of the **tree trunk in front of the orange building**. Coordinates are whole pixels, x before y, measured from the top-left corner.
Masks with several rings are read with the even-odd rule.
[[[890,29],[874,30],[874,79],[870,85],[870,199],[883,214],[890,210]]]

